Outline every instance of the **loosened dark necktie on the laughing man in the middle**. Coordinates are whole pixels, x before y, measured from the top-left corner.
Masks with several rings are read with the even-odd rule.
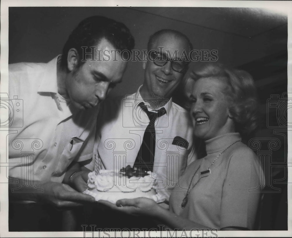
[[[157,113],[150,112],[147,109],[147,106],[143,102],[140,102],[139,105],[142,110],[147,114],[150,122],[146,127],[144,132],[143,141],[136,157],[134,167],[138,167],[147,171],[153,171],[153,163],[155,156],[155,127],[154,123],[157,118],[164,115],[166,113],[165,108],[160,108]]]

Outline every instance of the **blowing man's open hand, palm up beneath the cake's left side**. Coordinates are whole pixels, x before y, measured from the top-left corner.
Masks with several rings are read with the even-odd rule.
[[[84,202],[94,202],[94,197],[77,192],[67,184],[46,182],[41,186],[44,192],[37,193],[39,201],[51,203],[57,207],[80,206]]]

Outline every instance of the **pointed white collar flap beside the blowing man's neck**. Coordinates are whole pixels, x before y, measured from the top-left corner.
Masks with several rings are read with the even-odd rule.
[[[46,68],[43,78],[41,80],[41,84],[39,85],[38,92],[58,93],[57,62],[58,59],[61,59],[60,56],[61,55],[58,55],[46,64]]]

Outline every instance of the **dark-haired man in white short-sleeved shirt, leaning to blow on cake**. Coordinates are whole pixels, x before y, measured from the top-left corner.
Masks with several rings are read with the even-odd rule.
[[[62,55],[52,61],[9,65],[9,96],[23,100],[14,115],[17,130],[9,134],[9,199],[57,206],[94,201],[67,184],[83,180],[86,172],[79,171],[77,162],[92,157],[98,104],[126,69],[119,53],[109,52],[133,47],[123,23],[93,16],[79,23]],[[109,60],[91,60],[104,51]]]

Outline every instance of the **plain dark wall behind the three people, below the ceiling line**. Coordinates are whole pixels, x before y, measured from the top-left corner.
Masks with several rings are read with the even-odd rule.
[[[186,8],[175,8],[174,17],[181,20],[172,20],[124,7],[10,7],[9,63],[51,60],[61,54],[62,46],[71,30],[81,20],[91,15],[103,15],[125,23],[135,37],[135,49],[146,49],[150,34],[163,28],[171,28],[186,34],[194,49],[218,49],[218,61],[232,66],[252,62],[285,49],[287,46],[285,34],[283,36],[281,33],[283,30],[281,30],[281,34],[279,29],[275,29],[251,39],[228,33],[236,27],[244,27],[245,19],[235,24],[232,18],[226,18],[222,22],[224,31],[210,30],[200,26],[199,22],[198,24],[185,23],[184,9]],[[193,9],[197,11],[198,8]],[[164,8],[153,8],[154,10],[163,11]],[[190,11],[190,8],[187,10]],[[205,9],[200,8],[199,10],[204,16]],[[215,16],[214,13],[212,19],[200,17],[200,21],[212,21],[214,24],[218,24],[219,19]],[[192,15],[188,18],[192,18]],[[186,20],[196,22],[195,18]],[[260,31],[263,23],[255,21],[255,24],[258,24]],[[197,63],[194,62],[192,65],[194,64]],[[123,82],[111,92],[111,95],[135,92],[142,84],[143,76],[142,62],[129,62]]]

